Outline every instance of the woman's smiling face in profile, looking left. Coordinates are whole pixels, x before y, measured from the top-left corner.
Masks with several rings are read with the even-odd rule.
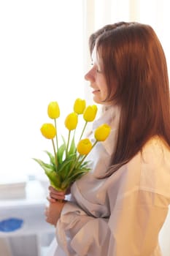
[[[85,80],[90,82],[90,87],[93,89],[93,100],[98,104],[106,104],[104,99],[107,97],[107,81],[104,75],[103,62],[99,54],[96,52],[96,47],[92,53],[93,67],[85,75]]]

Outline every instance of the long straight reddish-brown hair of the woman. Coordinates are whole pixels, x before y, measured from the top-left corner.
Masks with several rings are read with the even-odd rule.
[[[141,23],[104,26],[89,39],[103,59],[108,95],[120,106],[115,152],[107,176],[158,135],[170,146],[169,78],[166,57],[155,31]],[[117,88],[113,88],[113,80]]]

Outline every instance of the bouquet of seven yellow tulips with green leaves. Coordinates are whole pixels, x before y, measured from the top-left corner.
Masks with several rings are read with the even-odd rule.
[[[45,138],[52,140],[53,154],[49,151],[45,151],[50,159],[50,163],[45,163],[41,159],[34,158],[34,160],[45,170],[51,186],[59,191],[65,191],[70,184],[77,180],[77,178],[80,178],[90,170],[85,158],[98,141],[104,141],[107,139],[110,132],[109,125],[102,124],[96,128],[94,132],[96,140],[93,144],[88,138],[82,139],[88,122],[91,122],[96,118],[98,109],[96,105],[88,105],[88,107],[86,107],[84,99],[76,99],[73,109],[74,111],[66,116],[64,122],[65,127],[69,131],[68,139],[66,141],[62,136],[63,143],[61,146],[58,146],[56,119],[60,116],[60,108],[58,106],[58,102],[50,102],[47,107],[47,114],[54,120],[54,124],[43,124],[40,130]],[[75,131],[79,115],[83,116],[85,124],[76,146]]]

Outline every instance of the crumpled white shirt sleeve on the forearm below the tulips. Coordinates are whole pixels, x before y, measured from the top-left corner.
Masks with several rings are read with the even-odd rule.
[[[88,216],[74,203],[66,203],[58,220],[56,235],[66,255],[107,255],[108,219]]]

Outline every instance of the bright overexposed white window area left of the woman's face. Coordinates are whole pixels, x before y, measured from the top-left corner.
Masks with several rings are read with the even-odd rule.
[[[31,158],[52,149],[39,131],[47,104],[58,101],[63,128],[84,97],[82,1],[0,1],[0,37],[1,183],[42,172]]]

